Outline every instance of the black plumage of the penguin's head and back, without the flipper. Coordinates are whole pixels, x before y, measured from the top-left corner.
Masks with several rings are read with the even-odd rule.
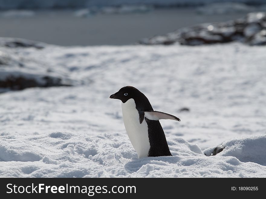
[[[127,94],[127,95],[124,95]],[[132,86],[125,86],[121,88],[117,93],[110,96],[110,98],[120,99],[123,103],[128,99],[133,98],[136,104],[136,109],[139,113],[140,124],[144,120],[144,111],[154,111],[148,98],[141,93],[137,88]],[[145,118],[148,124],[148,137],[150,141],[150,150],[148,152],[149,157],[157,156],[171,156],[164,130],[159,121],[149,120]]]

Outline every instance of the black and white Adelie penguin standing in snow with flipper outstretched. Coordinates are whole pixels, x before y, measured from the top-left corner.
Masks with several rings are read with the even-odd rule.
[[[158,120],[180,121],[179,118],[154,111],[148,98],[132,86],[121,88],[110,98],[122,101],[125,129],[138,158],[172,155]]]

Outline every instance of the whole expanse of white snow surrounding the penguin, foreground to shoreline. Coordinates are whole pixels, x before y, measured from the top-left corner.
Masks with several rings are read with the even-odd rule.
[[[0,52],[24,64],[11,61],[1,70],[49,69],[75,82],[1,94],[1,177],[266,177],[262,46],[0,46]],[[154,110],[181,119],[160,121],[172,157],[137,158],[121,103],[109,99],[126,85],[142,91]],[[222,152],[204,155],[221,144]]]

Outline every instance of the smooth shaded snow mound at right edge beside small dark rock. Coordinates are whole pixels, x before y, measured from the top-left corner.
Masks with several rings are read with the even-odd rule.
[[[234,156],[242,162],[256,162],[266,166],[266,135],[231,139],[221,144],[224,149],[216,156]],[[204,153],[211,155],[213,148]]]

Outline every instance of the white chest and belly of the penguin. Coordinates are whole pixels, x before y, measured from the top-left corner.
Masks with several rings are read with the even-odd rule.
[[[145,119],[139,123],[139,113],[134,99],[122,102],[122,114],[129,140],[131,141],[138,158],[148,157],[150,142],[148,137],[148,125]]]

